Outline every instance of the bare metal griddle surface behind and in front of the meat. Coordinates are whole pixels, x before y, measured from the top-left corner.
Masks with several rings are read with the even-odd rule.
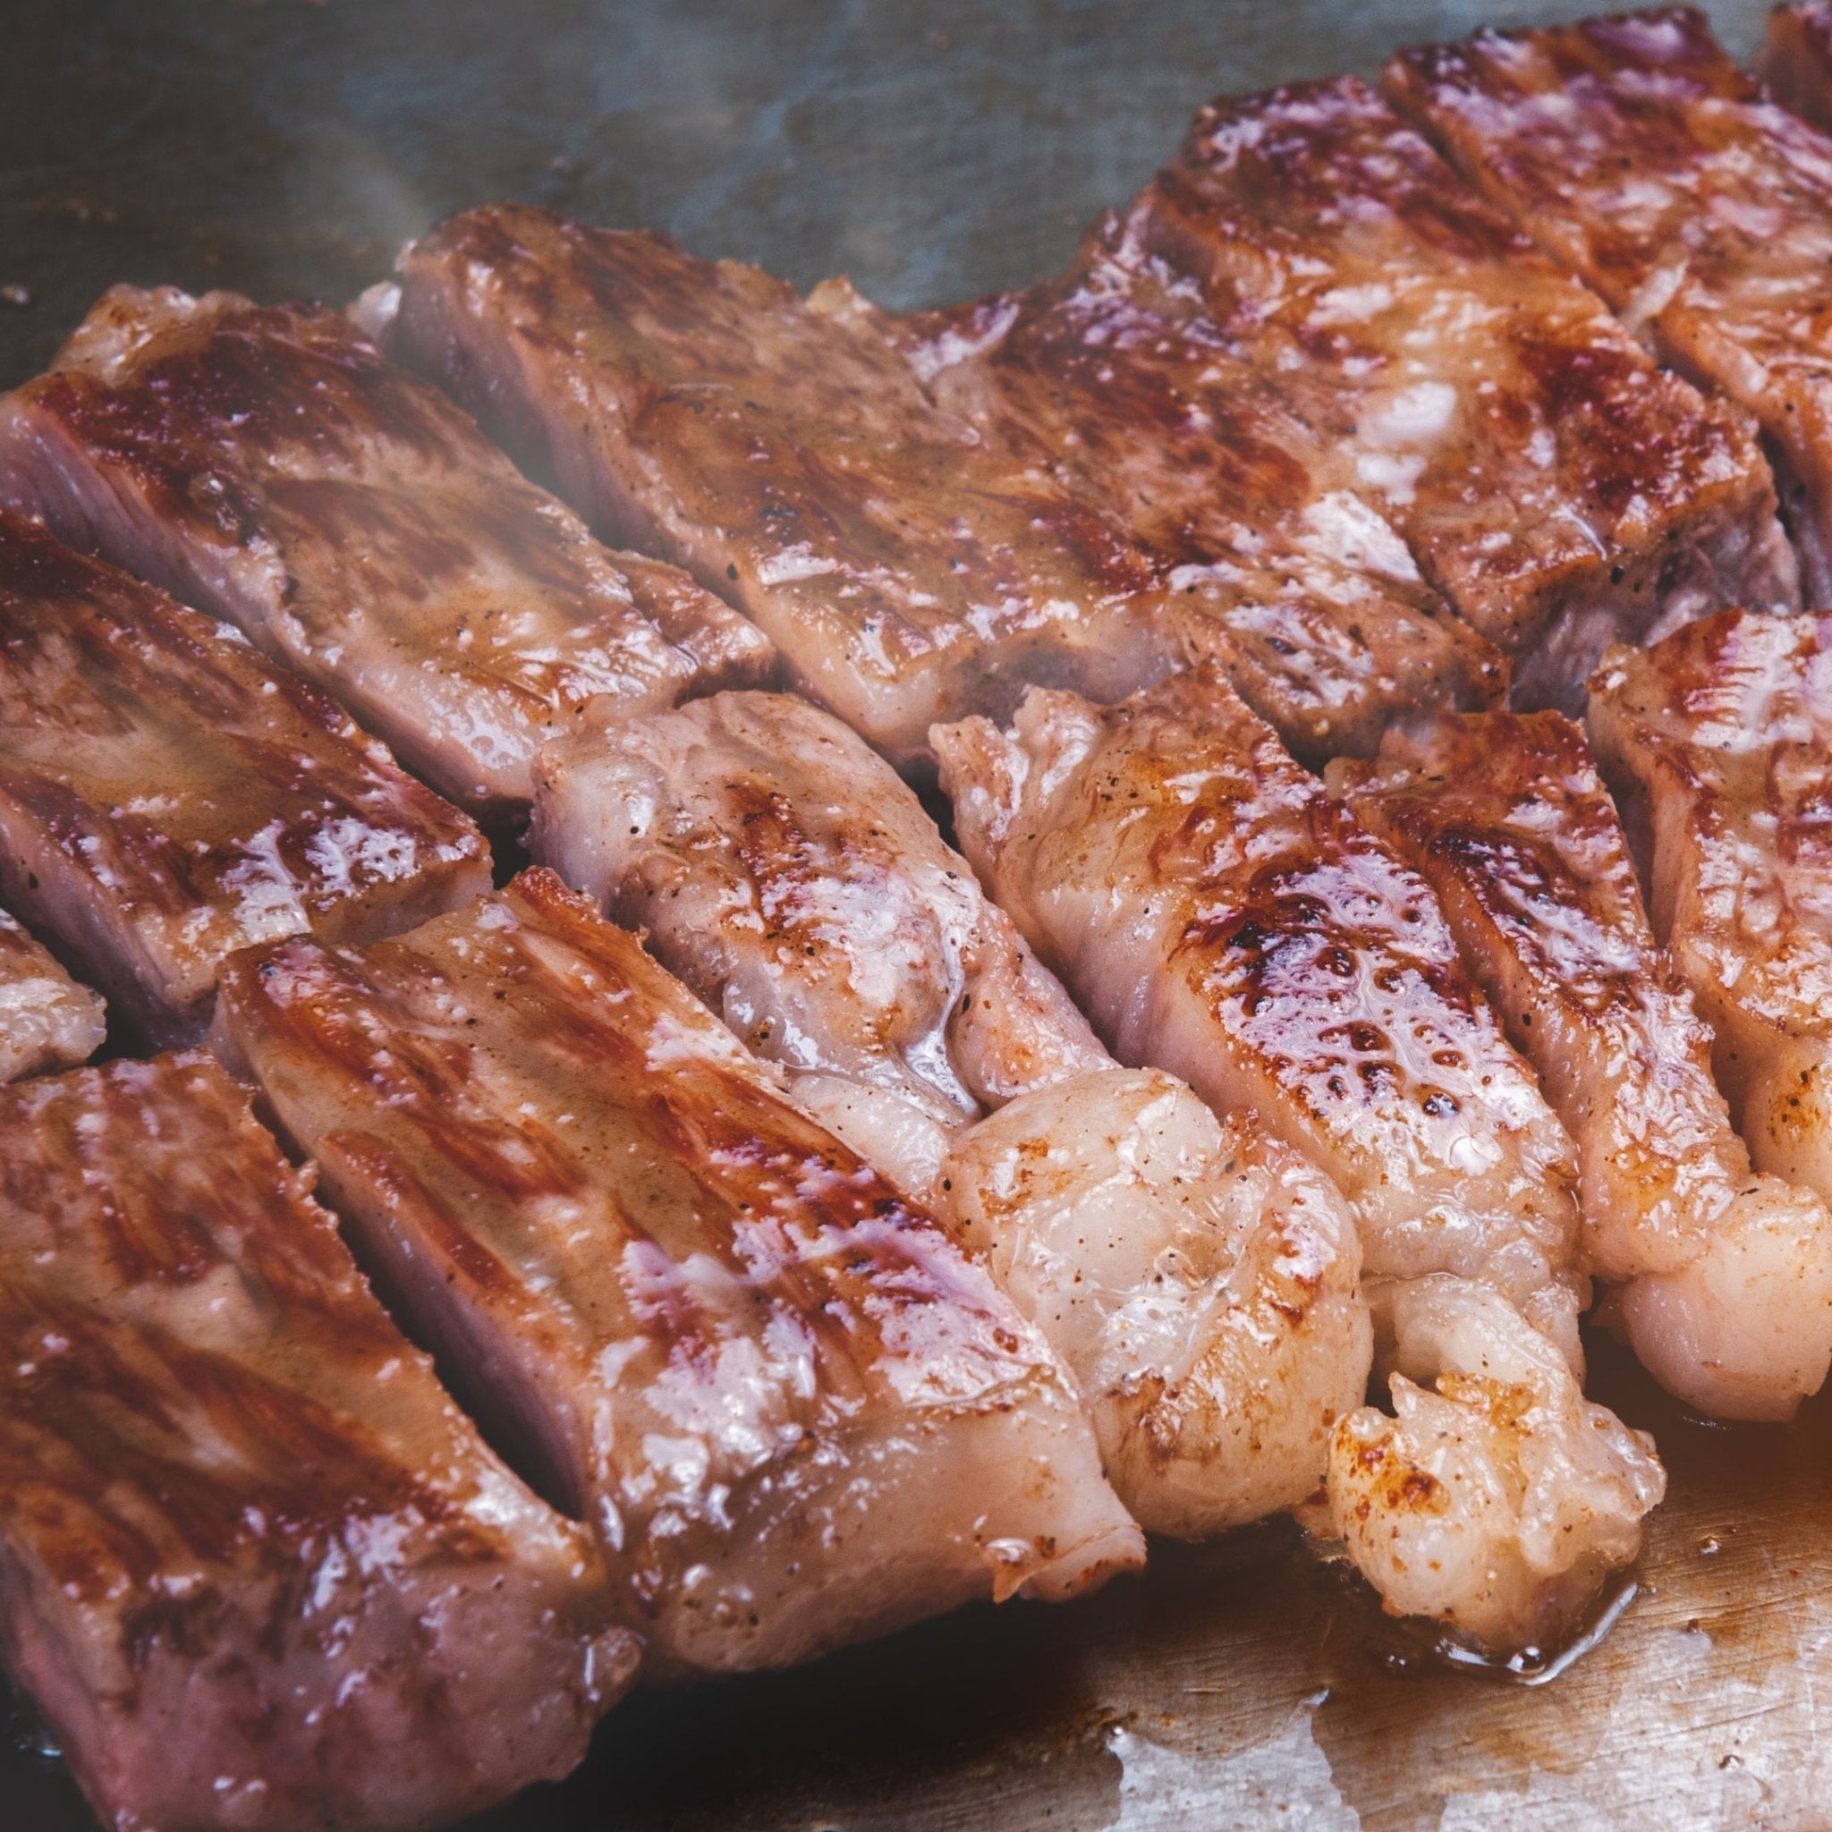
[[[1510,22],[1566,4],[1504,4]],[[1759,4],[1711,7],[1748,51]],[[1464,0],[4,0],[0,385],[114,280],[344,299],[447,211],[533,198],[892,306],[1033,278],[1207,95],[1372,71]],[[1493,15],[1488,15],[1493,16]],[[1685,1420],[1614,1630],[1550,1684],[1453,1673],[1284,1526],[1158,1546],[768,1680],[645,1693],[471,1832],[1832,1825],[1832,1401]],[[1821,1698],[1825,1704],[1821,1704]],[[1821,1709],[1827,1735],[1821,1737]],[[4,1832],[90,1832],[18,1713]]]

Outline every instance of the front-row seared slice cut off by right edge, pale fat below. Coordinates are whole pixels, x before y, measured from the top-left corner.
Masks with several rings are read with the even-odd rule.
[[[1832,619],[1726,612],[1612,652],[1590,738],[1762,1171],[1832,1202]]]

